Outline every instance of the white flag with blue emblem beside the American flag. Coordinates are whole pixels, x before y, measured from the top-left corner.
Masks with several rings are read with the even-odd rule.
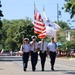
[[[54,39],[56,40],[57,37],[56,37],[56,34],[57,34],[57,30],[60,29],[59,26],[56,26],[57,24],[54,24],[52,21],[50,21],[45,12],[43,11],[43,14],[44,14],[44,23],[45,23],[45,27],[46,27],[46,35],[47,36],[50,36],[50,37],[54,37]]]

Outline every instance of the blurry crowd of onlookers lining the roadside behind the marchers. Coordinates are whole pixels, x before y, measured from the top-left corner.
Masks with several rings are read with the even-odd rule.
[[[39,52],[38,52],[39,53]],[[3,50],[0,51],[0,56],[21,56],[22,54],[20,53],[20,51],[17,52],[4,52]],[[57,53],[57,57],[75,57],[75,50],[59,50]]]

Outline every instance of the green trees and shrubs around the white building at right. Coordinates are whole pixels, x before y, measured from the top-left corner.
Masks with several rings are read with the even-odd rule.
[[[70,30],[70,27],[66,22],[59,21],[58,25],[62,28],[57,35],[57,40],[62,43],[62,46],[59,47],[61,50],[69,50],[71,47],[75,49],[74,39],[72,41],[66,41],[66,30]],[[71,31],[71,36],[75,36],[75,31]]]

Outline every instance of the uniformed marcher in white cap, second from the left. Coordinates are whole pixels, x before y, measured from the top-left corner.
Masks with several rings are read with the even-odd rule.
[[[31,64],[32,64],[32,71],[35,71],[36,64],[38,61],[38,53],[37,53],[37,47],[38,44],[36,42],[36,36],[32,36],[32,41],[30,42],[30,51],[31,51]]]

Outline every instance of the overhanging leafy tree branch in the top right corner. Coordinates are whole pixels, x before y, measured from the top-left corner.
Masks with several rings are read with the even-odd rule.
[[[64,9],[66,12],[70,13],[70,18],[73,18],[75,15],[75,0],[65,0]]]

